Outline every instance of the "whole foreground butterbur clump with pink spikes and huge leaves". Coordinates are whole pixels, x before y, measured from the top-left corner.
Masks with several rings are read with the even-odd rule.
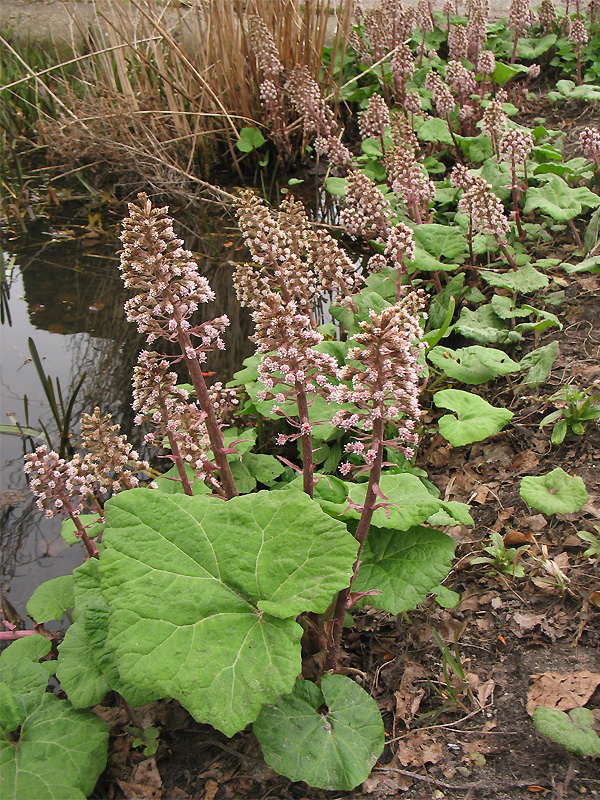
[[[392,227],[380,212],[389,256],[401,259],[410,229]],[[282,461],[301,474],[251,452],[252,424],[227,427],[232,390],[209,389],[201,369],[211,349],[224,346],[227,321],[197,323],[210,286],[167,210],[140,195],[122,237],[121,270],[135,293],[127,314],[149,345],[167,340],[181,354],[140,354],[134,408],[146,443],[173,468],[135,486],[134,471],[147,465],[97,410],[84,426],[86,444],[94,463],[104,454],[108,477],[98,477],[96,464],[104,494],[93,502],[91,481],[73,465],[45,450],[28,456],[48,513],[66,513],[76,525],[84,507],[99,513],[95,541],[77,528],[90,558],[55,579],[60,587],[40,587],[28,610],[44,623],[70,609],[73,623],[51,662],[69,713],[109,691],[133,709],[176,698],[227,736],[254,723],[266,762],[292,780],[347,791],[366,779],[384,746],[375,701],[343,674],[347,612],[367,603],[394,614],[414,608],[445,578],[454,552],[427,520],[440,511],[471,519],[397,465],[408,464],[419,443],[424,294],[407,291],[393,305],[381,297],[381,308],[365,315],[355,265],[313,230],[300,203],[286,200],[273,212],[246,194],[238,216],[252,256],[236,275],[255,323],[257,352],[244,372],[259,388],[248,394],[284,426],[275,446],[286,446]],[[318,329],[320,287],[353,320],[345,341]],[[188,367],[193,402],[174,361]],[[106,444],[90,438],[94,427]],[[344,443],[341,477],[313,463],[315,441],[331,437]],[[299,464],[288,458],[291,442],[300,445]],[[115,492],[108,500],[107,490]],[[313,678],[321,665],[315,682],[302,677],[304,655]]]

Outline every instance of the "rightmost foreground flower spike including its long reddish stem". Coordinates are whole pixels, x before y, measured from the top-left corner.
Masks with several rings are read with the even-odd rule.
[[[332,389],[332,399],[350,402],[357,407],[355,413],[339,412],[333,422],[344,430],[359,432],[355,441],[346,446],[346,451],[365,462],[369,482],[355,534],[359,542],[358,555],[350,585],[337,598],[325,669],[337,668],[352,584],[358,574],[373,514],[382,505],[382,500],[385,502],[379,488],[384,447],[398,447],[407,458],[411,458],[418,443],[416,429],[421,411],[417,359],[424,346],[420,325],[423,303],[422,293],[411,292],[380,315],[371,312],[370,320],[361,323],[362,331],[353,337],[355,346],[348,351],[348,363],[340,371],[343,382]],[[390,426],[395,429],[392,439],[386,438]],[[348,463],[341,467],[343,474],[351,469]]]

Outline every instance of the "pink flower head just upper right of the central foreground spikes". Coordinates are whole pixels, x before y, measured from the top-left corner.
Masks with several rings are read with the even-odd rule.
[[[380,189],[358,170],[348,175],[346,207],[340,220],[351,236],[387,238],[391,209]]]

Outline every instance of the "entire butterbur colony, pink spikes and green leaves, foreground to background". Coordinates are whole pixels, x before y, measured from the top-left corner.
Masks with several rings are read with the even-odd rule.
[[[576,45],[581,83],[579,7],[567,30],[570,21],[561,18],[561,32]],[[485,0],[470,2],[464,18],[447,2],[436,20],[425,2],[404,9],[386,0],[352,35],[355,58],[379,89],[350,82],[362,101],[355,155],[310,73],[297,67],[286,76],[264,22],[250,20],[273,146],[289,156],[295,111],[305,141],[336,172],[326,185],[344,198],[345,232],[368,255],[355,262],[293,197],[270,208],[240,192],[250,260],[237,266],[234,286],[251,310],[256,352],[228,386],[209,387],[203,366],[225,348],[229,321],[196,321],[214,294],[168,209],[143,193],[129,205],[125,308],[148,345],[133,377],[135,421],[172,467],[152,480],[99,409],[82,420],[87,455],[66,461],[40,447],[26,456],[40,508],[68,516],[65,536],[81,540],[88,559],[40,587],[28,606],[40,624],[72,609],[58,659],[37,663],[51,645],[35,635],[7,651],[20,648],[7,669],[18,656],[37,676],[27,701],[18,680],[6,684],[9,734],[38,723],[33,698],[53,670],[69,702],[53,703],[45,722],[78,715],[93,728],[94,752],[105,752],[107,731],[83,709],[112,690],[133,709],[176,698],[228,736],[252,724],[267,763],[292,780],[336,790],[365,780],[383,750],[383,723],[347,674],[344,627],[357,606],[399,614],[436,591],[454,545],[435,526],[472,524],[468,508],[440,500],[414,466],[430,370],[468,384],[525,371],[528,384],[541,383],[555,343],[521,363],[499,349],[559,324],[545,310],[516,306],[519,293],[548,285],[526,250],[536,228],[530,214],[544,225],[568,222],[581,244],[573,220],[600,206],[590,188],[565,179],[600,178],[600,132],[582,131],[585,159],[547,169],[557,152],[548,131],[512,123],[509,94],[498,88],[519,65],[497,57],[514,65],[528,29],[556,41],[558,24],[551,0],[539,21],[513,0],[504,39],[486,48]],[[435,52],[441,41],[447,63]],[[536,65],[522,70],[514,100],[539,74]],[[448,177],[434,182],[430,174],[445,173],[447,161]],[[509,294],[475,311],[465,305],[452,324],[465,273],[449,273],[463,263],[476,269],[481,254],[501,259],[480,275]],[[478,344],[439,346],[451,331]],[[177,355],[165,354],[165,342]],[[177,363],[191,385],[178,384]],[[454,446],[498,433],[512,416],[457,389],[433,399],[456,413],[438,423]],[[257,422],[266,420],[276,430],[272,451],[258,452],[261,441],[254,452]],[[69,777],[72,796],[91,791],[102,755],[85,768],[87,783],[83,768]],[[33,792],[33,778],[23,780],[15,796]]]

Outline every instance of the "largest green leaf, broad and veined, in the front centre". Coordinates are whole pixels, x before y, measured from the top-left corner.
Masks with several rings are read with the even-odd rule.
[[[298,491],[122,492],[106,504],[102,590],[123,680],[231,736],[289,692],[302,611],[347,586],[357,543]]]

